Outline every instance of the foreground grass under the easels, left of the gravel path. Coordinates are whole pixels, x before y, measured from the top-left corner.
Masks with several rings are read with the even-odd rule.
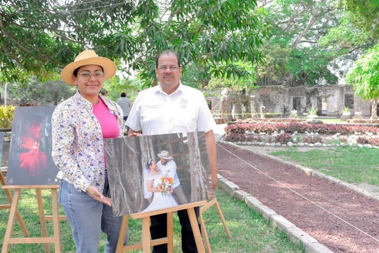
[[[51,214],[51,194],[48,190],[42,191],[45,214]],[[304,249],[291,241],[287,235],[270,224],[255,210],[245,203],[231,198],[222,191],[216,196],[221,206],[224,218],[232,238],[226,236],[222,222],[218,218],[217,210],[211,207],[204,213],[210,243],[213,252],[305,252]],[[0,190],[0,204],[7,203],[4,190]],[[22,190],[19,210],[31,237],[41,236],[38,218],[38,208],[34,190]],[[61,213],[63,214],[62,210]],[[9,209],[0,210],[0,237],[4,238],[9,217]],[[129,242],[140,241],[140,220],[129,221]],[[53,224],[48,222],[49,234],[52,235]],[[13,237],[23,237],[18,222],[15,223]],[[71,229],[67,221],[61,222],[62,252],[75,252]],[[174,215],[174,252],[181,252],[180,224]],[[0,241],[0,247],[3,240]],[[104,250],[105,235],[102,235],[100,252]],[[52,245],[54,251],[54,245]],[[43,244],[13,244],[9,252],[43,252]],[[134,250],[132,252],[141,252]]]

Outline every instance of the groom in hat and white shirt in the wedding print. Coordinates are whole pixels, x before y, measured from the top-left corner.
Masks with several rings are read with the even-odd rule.
[[[188,200],[185,197],[183,189],[180,185],[178,174],[176,173],[176,163],[172,160],[170,153],[167,150],[162,150],[157,155],[161,158],[161,160],[157,162],[158,170],[161,171],[162,175],[174,180],[174,184],[172,185],[174,191],[172,194],[176,202],[179,205],[188,203]]]

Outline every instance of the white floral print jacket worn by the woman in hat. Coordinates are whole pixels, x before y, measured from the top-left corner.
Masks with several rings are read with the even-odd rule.
[[[123,114],[113,101],[101,97],[116,115],[123,136]],[[92,113],[92,104],[79,92],[59,104],[52,116],[52,156],[59,168],[58,179],[66,180],[79,191],[89,186],[103,192],[105,182],[104,142],[100,123]]]

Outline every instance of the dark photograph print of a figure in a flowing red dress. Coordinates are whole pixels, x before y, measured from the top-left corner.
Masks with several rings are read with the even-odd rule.
[[[16,107],[8,158],[8,185],[48,185],[58,168],[52,152],[51,117],[55,106]]]

